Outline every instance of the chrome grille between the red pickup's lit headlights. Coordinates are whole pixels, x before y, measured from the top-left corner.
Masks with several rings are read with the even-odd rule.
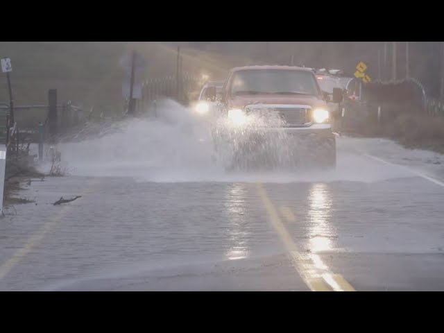
[[[275,117],[279,115],[282,120],[282,126],[300,127],[307,126],[310,123],[311,107],[309,105],[247,105],[246,112],[249,114],[258,114],[261,117]]]

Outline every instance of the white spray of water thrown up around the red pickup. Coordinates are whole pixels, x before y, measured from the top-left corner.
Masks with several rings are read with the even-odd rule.
[[[373,182],[407,176],[399,169],[369,162],[348,148],[344,151],[341,146],[346,138],[338,141],[336,171],[229,171],[233,152],[248,155],[252,134],[264,138],[263,125],[278,126],[280,119],[255,116],[246,126],[235,127],[226,119],[200,117],[173,101],[159,105],[158,114],[155,119],[128,119],[84,129],[76,136],[77,142],[60,144],[62,160],[73,176],[133,177],[152,182]],[[274,166],[288,162],[297,148],[282,131],[262,139],[259,145],[259,151],[272,152],[268,162]],[[258,164],[254,158],[253,162]]]

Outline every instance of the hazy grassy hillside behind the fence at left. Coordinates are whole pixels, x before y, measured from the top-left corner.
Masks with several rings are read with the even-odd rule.
[[[140,78],[176,74],[177,49],[160,42],[0,42],[1,58],[12,61],[12,89],[16,105],[46,104],[48,89],[58,89],[59,101],[84,108],[102,105],[121,109],[121,84],[126,74],[119,60],[136,49],[148,63]],[[216,53],[182,49],[183,71],[224,78],[246,58],[223,58]],[[8,101],[6,75],[0,74],[0,102]]]

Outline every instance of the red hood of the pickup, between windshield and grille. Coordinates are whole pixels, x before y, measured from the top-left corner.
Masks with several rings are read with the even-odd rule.
[[[232,108],[244,108],[250,104],[301,104],[311,105],[313,108],[326,106],[322,99],[308,95],[263,94],[232,96],[230,99],[230,107]]]

